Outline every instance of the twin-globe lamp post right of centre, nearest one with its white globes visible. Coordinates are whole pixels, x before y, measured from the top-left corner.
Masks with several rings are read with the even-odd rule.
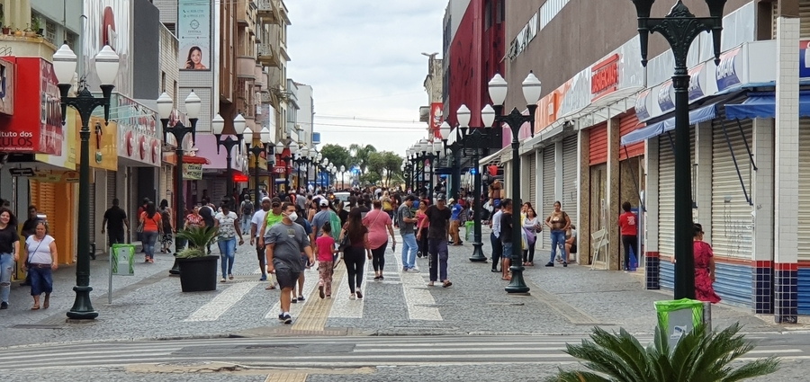
[[[518,141],[518,134],[520,127],[524,123],[529,123],[531,135],[535,135],[535,111],[537,110],[537,101],[540,99],[541,87],[540,80],[529,72],[529,75],[523,81],[523,97],[526,99],[527,109],[529,115],[523,115],[518,108],[512,109],[508,115],[501,115],[503,112],[503,102],[506,100],[508,84],[506,80],[500,75],[495,75],[489,84],[490,98],[494,103],[495,122],[500,124],[506,123],[512,131],[512,261],[509,271],[512,272],[512,280],[506,287],[507,293],[527,293],[529,288],[526,281],[523,280],[523,248],[521,247],[520,230],[523,227],[520,221],[520,154],[518,148],[520,141]]]

